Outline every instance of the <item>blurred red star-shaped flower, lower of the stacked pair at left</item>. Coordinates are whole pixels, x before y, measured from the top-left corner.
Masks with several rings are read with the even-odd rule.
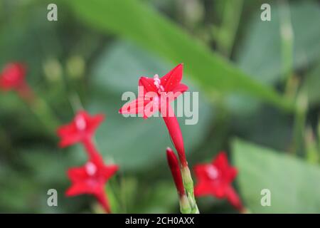
[[[110,213],[110,205],[105,195],[105,183],[117,170],[117,165],[105,165],[100,156],[92,157],[84,166],[68,170],[72,186],[65,194],[67,196],[94,195],[105,211]]]

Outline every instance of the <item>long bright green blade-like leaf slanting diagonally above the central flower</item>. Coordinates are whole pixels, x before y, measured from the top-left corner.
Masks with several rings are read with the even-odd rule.
[[[252,80],[142,1],[73,0],[68,4],[90,26],[128,38],[175,64],[185,63],[186,73],[209,94],[217,90],[247,93],[291,108],[272,88]]]

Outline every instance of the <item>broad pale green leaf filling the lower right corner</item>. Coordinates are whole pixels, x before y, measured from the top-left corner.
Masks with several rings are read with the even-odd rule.
[[[233,157],[247,207],[255,213],[319,213],[320,169],[295,157],[235,140]],[[271,192],[262,207],[261,190]]]

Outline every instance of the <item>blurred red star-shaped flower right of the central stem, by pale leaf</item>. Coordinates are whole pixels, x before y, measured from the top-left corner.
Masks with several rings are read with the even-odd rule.
[[[225,152],[220,152],[209,164],[196,165],[193,170],[198,180],[194,190],[197,197],[226,197],[235,208],[243,209],[240,198],[231,185],[237,176],[237,170],[229,165]]]

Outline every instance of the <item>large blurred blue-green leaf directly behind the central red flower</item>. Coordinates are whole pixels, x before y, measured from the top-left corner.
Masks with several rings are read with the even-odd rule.
[[[124,67],[126,66],[126,67]],[[139,77],[160,76],[174,66],[166,65],[158,58],[129,43],[117,42],[107,48],[93,66],[90,113],[105,113],[107,118],[97,130],[96,139],[100,151],[120,165],[121,170],[138,170],[153,167],[166,159],[166,147],[172,147],[169,133],[162,118],[124,118],[119,108],[127,103],[122,93],[132,91],[137,95]],[[191,91],[199,91],[186,82]],[[206,138],[213,110],[199,93],[198,123],[185,125],[178,117],[186,153],[190,154]],[[192,110],[191,104],[191,110]],[[185,114],[185,113],[184,113]]]

